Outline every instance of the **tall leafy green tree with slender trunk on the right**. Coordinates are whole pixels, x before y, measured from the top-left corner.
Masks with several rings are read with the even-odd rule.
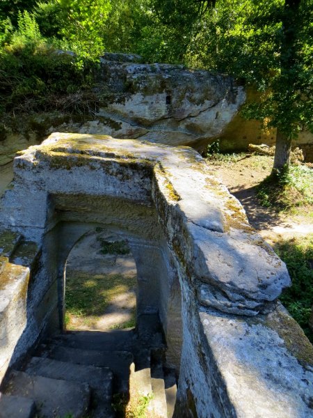
[[[300,130],[313,132],[312,21],[312,0],[218,0],[186,53],[191,65],[230,73],[259,91],[243,114],[277,128],[275,169],[289,164]]]

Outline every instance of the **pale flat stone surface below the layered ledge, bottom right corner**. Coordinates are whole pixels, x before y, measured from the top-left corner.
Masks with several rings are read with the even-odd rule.
[[[286,341],[278,329],[271,329],[271,321],[279,317],[289,321]],[[200,314],[236,416],[312,416],[313,369],[303,367],[298,361],[303,358],[294,357],[288,347],[288,339],[298,325],[290,321],[282,307],[268,318],[258,318],[252,323],[209,312]],[[307,361],[312,362],[310,343],[306,355]]]

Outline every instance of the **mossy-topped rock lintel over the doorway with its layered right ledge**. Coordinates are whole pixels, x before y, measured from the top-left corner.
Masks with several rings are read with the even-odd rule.
[[[204,307],[255,316],[290,284],[286,266],[250,227],[239,201],[191,148],[52,134],[15,158],[13,184],[2,199],[0,226],[22,233],[31,234],[32,226],[45,233],[49,195],[108,195],[154,206]]]

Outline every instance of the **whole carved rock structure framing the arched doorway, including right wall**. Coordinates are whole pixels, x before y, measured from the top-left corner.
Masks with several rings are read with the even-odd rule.
[[[0,247],[11,262],[30,266],[31,285],[27,302],[25,293],[10,296],[26,309],[12,314],[24,329],[6,364],[62,327],[67,256],[98,228],[127,239],[138,311],[159,312],[170,364],[180,371],[175,417],[312,415],[313,348],[276,303],[290,284],[287,269],[187,147],[53,134],[15,158],[0,203],[0,229],[8,231]],[[27,246],[31,240],[36,245]],[[14,320],[6,311],[0,320],[7,339]]]

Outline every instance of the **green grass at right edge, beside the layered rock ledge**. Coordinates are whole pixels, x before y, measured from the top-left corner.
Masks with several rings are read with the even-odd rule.
[[[313,234],[278,242],[274,249],[286,263],[292,280],[292,286],[283,291],[280,301],[313,343],[308,325],[313,304]]]

